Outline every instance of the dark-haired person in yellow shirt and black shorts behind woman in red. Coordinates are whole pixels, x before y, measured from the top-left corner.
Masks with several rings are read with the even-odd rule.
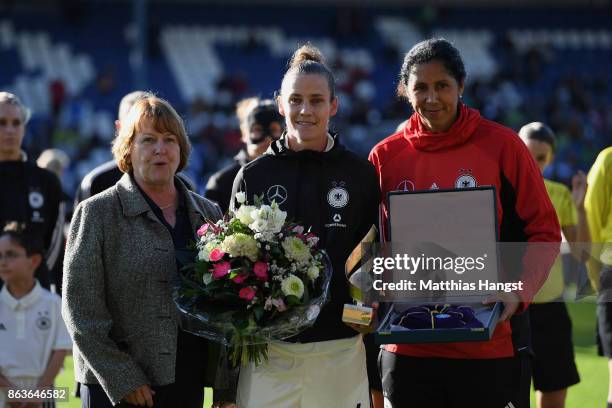
[[[556,147],[554,132],[541,122],[521,128],[519,136],[544,173],[552,163]],[[563,184],[544,179],[548,196],[555,207],[564,240],[572,255],[585,262],[588,253],[582,243],[590,241],[584,200],[586,175],[579,171],[572,178],[572,191]],[[575,244],[580,243],[580,244]],[[533,384],[538,408],[565,406],[567,388],[580,382],[574,361],[572,322],[563,302],[563,265],[561,257],[551,268],[548,280],[529,307],[533,359]]]

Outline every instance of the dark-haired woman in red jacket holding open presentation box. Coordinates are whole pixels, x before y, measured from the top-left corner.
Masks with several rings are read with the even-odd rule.
[[[555,210],[529,151],[511,129],[462,103],[465,78],[459,51],[444,39],[423,41],[406,54],[398,93],[414,114],[370,153],[382,197],[393,190],[493,185],[499,241],[559,242]],[[383,200],[383,228],[387,218]],[[394,407],[529,406],[529,323],[522,312],[546,279],[554,255],[548,258],[521,276],[520,293],[489,299],[504,303],[490,341],[387,345],[379,357],[386,402]]]

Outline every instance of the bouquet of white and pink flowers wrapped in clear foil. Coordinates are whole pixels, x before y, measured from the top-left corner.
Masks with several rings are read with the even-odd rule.
[[[174,298],[198,335],[231,347],[234,365],[267,360],[267,342],[310,327],[328,300],[331,263],[318,237],[256,198],[202,225]],[[197,322],[196,325],[193,322]]]

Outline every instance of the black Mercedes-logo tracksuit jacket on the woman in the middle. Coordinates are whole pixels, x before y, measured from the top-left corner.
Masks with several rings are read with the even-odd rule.
[[[342,322],[345,303],[351,302],[344,263],[378,217],[380,189],[371,163],[346,150],[334,137],[327,152],[294,152],[283,135],[268,151],[245,165],[236,175],[232,200],[245,192],[273,199],[292,220],[320,238],[332,265],[331,301],[315,324],[289,339],[301,343],[347,338],[356,332]]]

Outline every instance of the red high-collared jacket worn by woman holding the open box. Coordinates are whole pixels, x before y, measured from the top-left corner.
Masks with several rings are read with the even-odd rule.
[[[388,217],[386,196],[395,190],[453,189],[495,186],[498,240],[501,242],[551,242],[561,240],[555,209],[542,176],[529,151],[511,129],[480,116],[461,104],[457,121],[447,132],[425,129],[413,114],[406,127],[372,149],[369,160],[378,173],[382,191],[381,227]],[[552,245],[551,247],[555,247]],[[548,276],[556,253],[538,251],[529,273],[522,276],[519,313]],[[534,258],[532,256],[532,258]],[[529,258],[529,255],[526,255]],[[515,325],[515,330],[519,330]],[[526,326],[522,326],[523,331]],[[509,322],[497,325],[490,341],[444,344],[391,344],[387,351],[415,357],[503,358],[514,355],[517,338]],[[525,345],[525,344],[523,344]]]

